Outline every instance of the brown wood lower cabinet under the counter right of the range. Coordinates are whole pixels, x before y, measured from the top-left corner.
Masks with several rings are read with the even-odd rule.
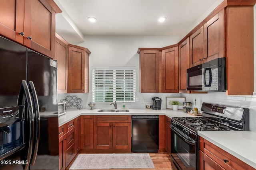
[[[200,170],[255,170],[242,160],[202,137],[200,137],[199,147]]]

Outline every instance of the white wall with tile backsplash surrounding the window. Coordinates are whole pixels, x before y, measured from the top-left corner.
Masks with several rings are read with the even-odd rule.
[[[256,47],[256,7],[254,6],[254,47]],[[200,21],[198,21],[200,22]],[[192,29],[192,28],[191,28]],[[190,30],[191,30],[190,29]],[[136,67],[136,102],[127,103],[127,108],[145,108],[146,102],[154,96],[162,98],[162,109],[166,108],[166,96],[186,97],[186,101],[194,103],[200,109],[202,102],[226,104],[250,109],[250,130],[256,132],[256,94],[253,96],[227,96],[225,92],[208,92],[208,94],[167,94],[167,93],[139,93],[139,55],[138,47],[165,47],[178,43],[182,37],[168,36],[85,36],[85,42],[80,46],[88,48],[90,55],[90,79],[92,67],[104,66],[135,66]],[[256,56],[256,51],[254,51]],[[254,57],[254,91],[256,91],[256,59]],[[59,94],[59,101],[67,95],[76,95],[83,100],[83,107],[92,101],[91,84],[89,94]],[[120,108],[120,104],[118,104]],[[112,108],[107,104],[96,104],[96,108]],[[193,105],[194,107],[194,105]]]

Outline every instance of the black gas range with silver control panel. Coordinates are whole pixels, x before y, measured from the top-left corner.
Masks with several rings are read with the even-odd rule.
[[[171,118],[171,158],[174,170],[199,169],[198,131],[248,131],[249,109],[203,103],[202,117]]]

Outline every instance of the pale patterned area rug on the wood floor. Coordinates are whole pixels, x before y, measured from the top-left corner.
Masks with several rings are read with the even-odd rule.
[[[70,170],[155,168],[148,153],[78,154]]]

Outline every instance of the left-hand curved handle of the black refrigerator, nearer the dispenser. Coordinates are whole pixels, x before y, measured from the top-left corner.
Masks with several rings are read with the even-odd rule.
[[[22,80],[21,82],[21,86],[20,86],[20,92],[19,92],[19,96],[18,96],[18,102],[17,102],[17,105],[23,105],[24,101],[23,101],[23,96],[25,94],[25,97],[26,97],[26,100],[25,102],[27,103],[28,105],[28,114],[26,115],[25,114],[25,122],[28,123],[28,127],[29,127],[29,133],[28,133],[28,138],[29,138],[29,142],[26,144],[27,146],[25,147],[26,150],[24,152],[22,152],[21,154],[21,160],[24,160],[24,161],[28,161],[30,162],[30,159],[31,159],[31,155],[32,155],[32,146],[33,146],[33,136],[34,136],[34,117],[33,117],[33,105],[32,105],[32,100],[31,100],[31,97],[30,97],[30,92],[29,92],[29,89],[28,89],[28,85],[27,85],[27,82],[26,80]],[[30,163],[28,164],[23,164],[23,168],[24,170],[28,170],[29,169],[29,166],[30,166]]]

